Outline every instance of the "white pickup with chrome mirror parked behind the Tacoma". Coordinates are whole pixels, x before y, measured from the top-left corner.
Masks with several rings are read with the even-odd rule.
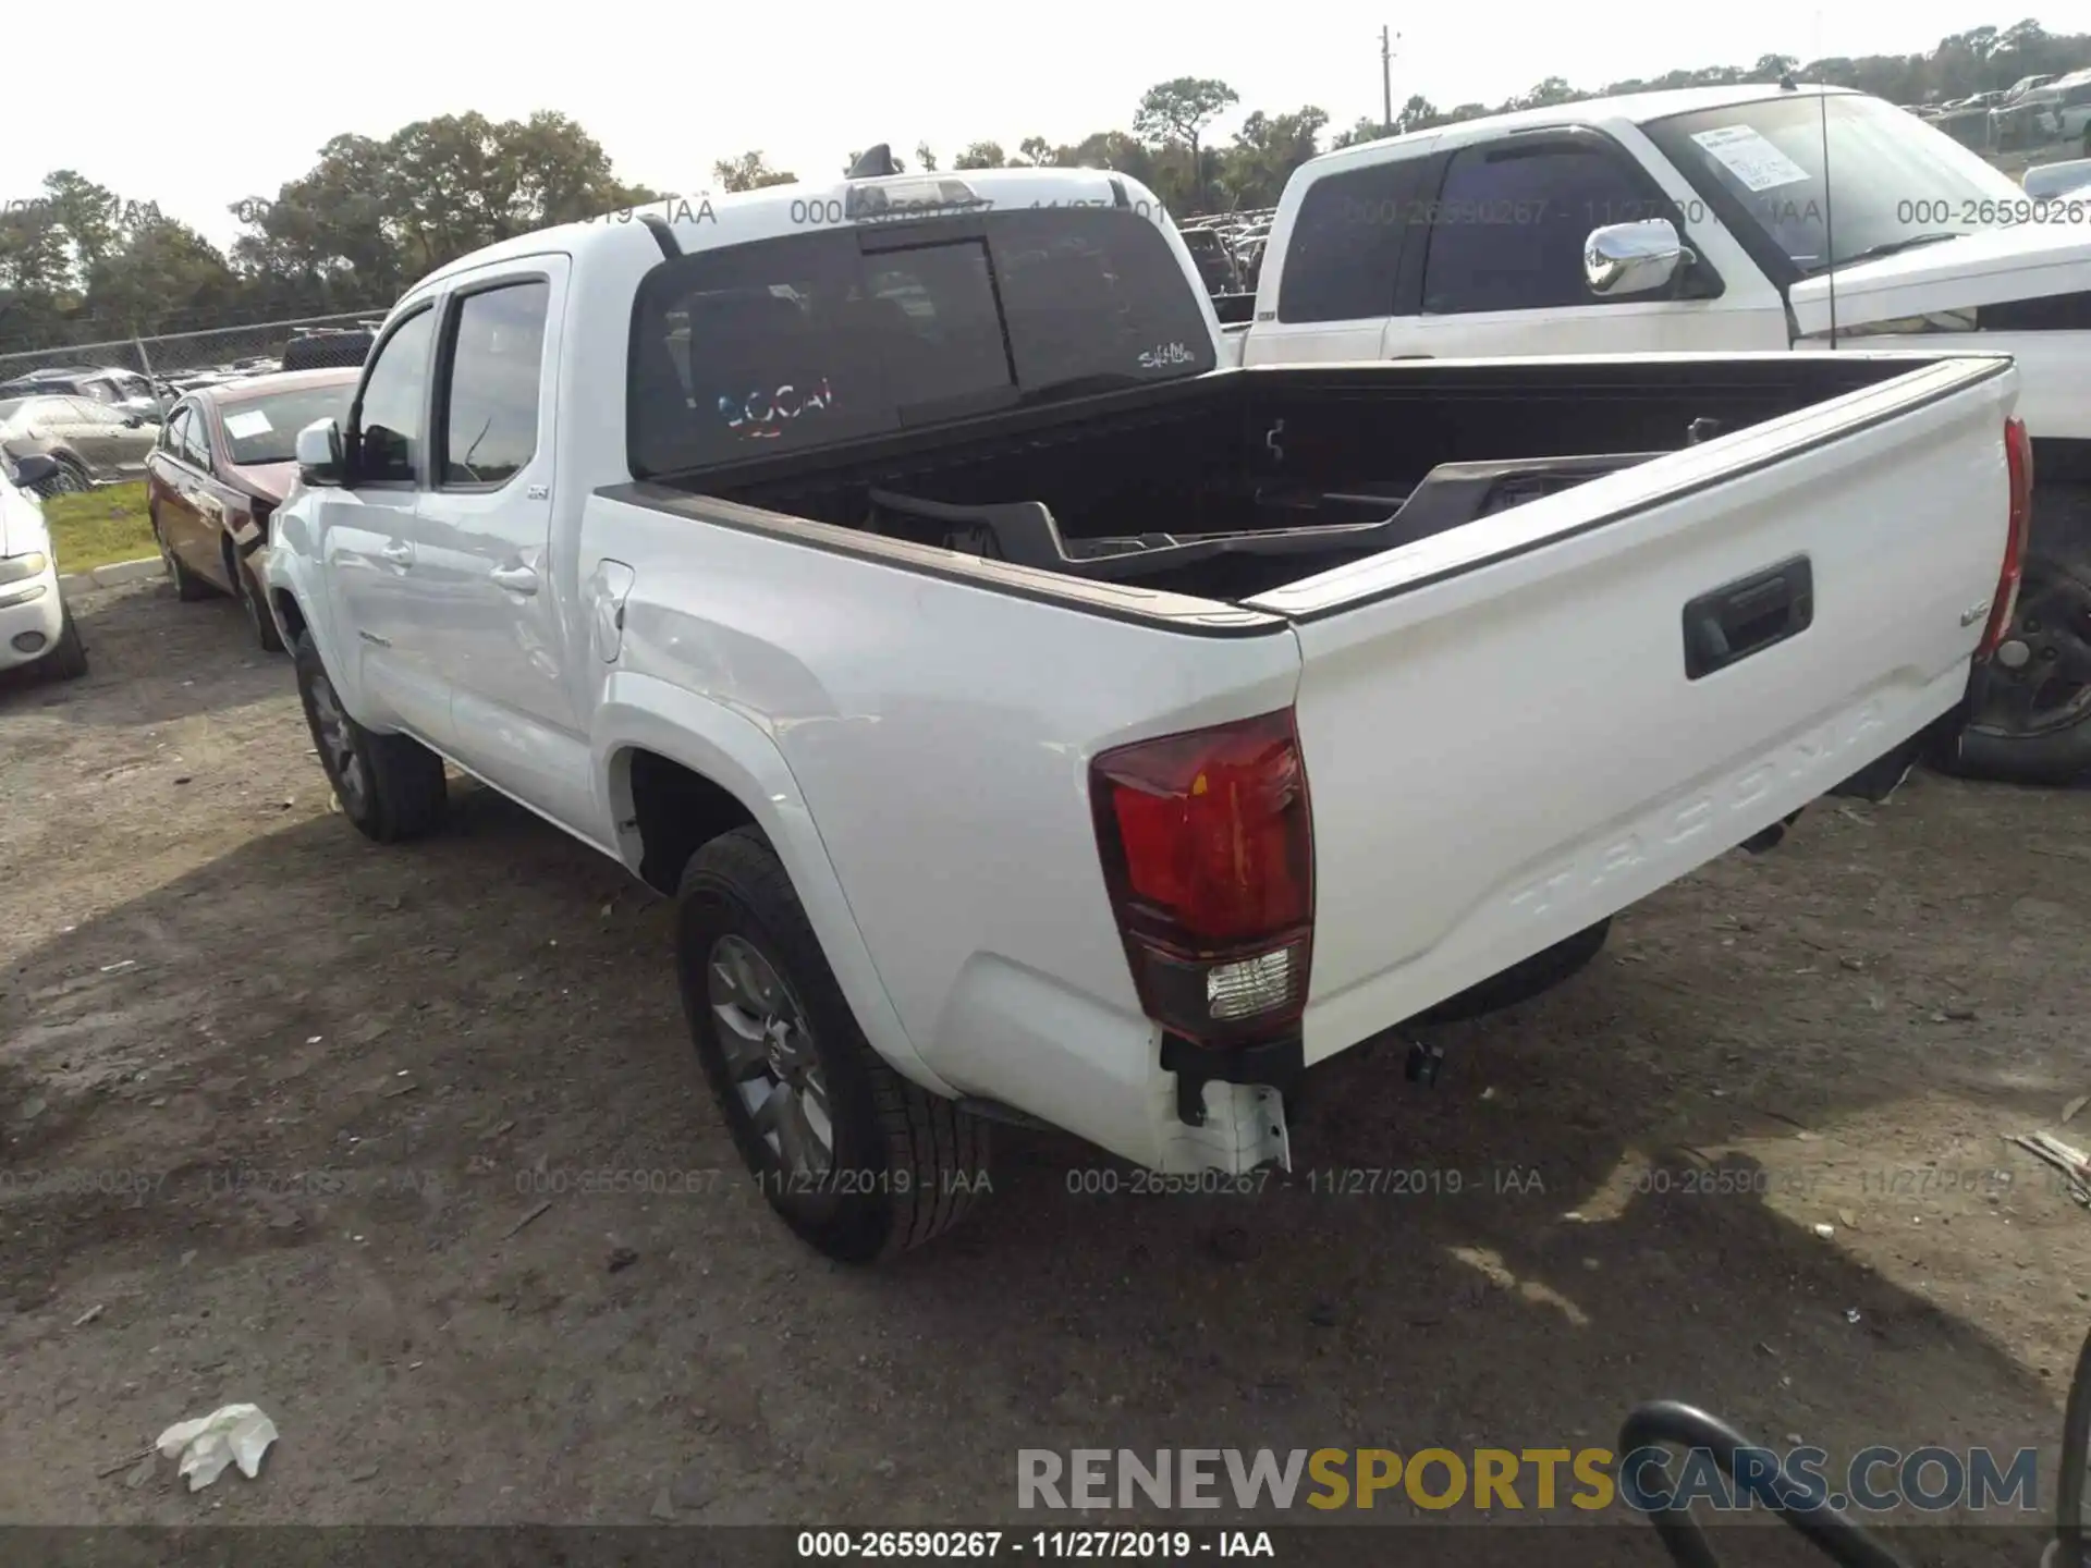
[[[2024,592],[1945,759],[2091,774],[2091,188],[2041,199],[1840,88],[1690,88],[1328,153],[1271,222],[1232,362],[2009,353]],[[1244,301],[1246,303],[1246,301]]]

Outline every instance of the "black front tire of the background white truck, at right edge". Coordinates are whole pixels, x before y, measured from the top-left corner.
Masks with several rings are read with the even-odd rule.
[[[1970,682],[1961,732],[1936,761],[1949,774],[2009,784],[2091,776],[2091,485],[2035,489],[2018,608],[2003,646]]]

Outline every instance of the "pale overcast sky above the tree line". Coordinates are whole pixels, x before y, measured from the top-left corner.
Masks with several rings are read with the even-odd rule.
[[[1215,140],[1248,109],[1317,105],[1342,128],[1380,115],[1382,25],[1399,33],[1395,105],[1420,92],[1451,107],[1499,102],[1549,75],[1598,88],[1763,54],[1903,54],[2020,21],[1978,0],[1432,4],[1409,17],[1361,0],[1276,13],[951,0],[797,0],[746,13],[642,0],[573,8],[230,0],[199,13],[203,27],[167,25],[171,15],[140,0],[94,10],[96,33],[125,40],[123,71],[142,96],[111,98],[105,77],[69,73],[67,50],[8,73],[0,203],[33,199],[46,171],[71,167],[119,201],[157,201],[230,245],[240,226],[226,207],[274,197],[330,136],[383,138],[470,109],[489,119],[556,109],[604,146],[619,178],[694,192],[711,184],[715,159],[749,148],[772,167],[832,178],[872,142],[912,161],[926,140],[945,165],[970,140],[1010,151],[1027,136],[1075,142],[1127,128],[1140,94],[1177,75],[1219,77],[1242,96]],[[2091,27],[2091,0],[2032,15],[2051,31],[2081,31]],[[144,102],[151,115],[132,113]]]

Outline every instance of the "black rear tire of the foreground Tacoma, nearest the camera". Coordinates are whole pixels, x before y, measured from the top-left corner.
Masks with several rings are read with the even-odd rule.
[[[803,1242],[838,1263],[878,1263],[951,1229],[987,1196],[987,1123],[903,1079],[864,1039],[799,895],[759,830],[738,828],[690,857],[675,932],[684,1012],[705,1079],[763,1198]],[[788,1087],[761,1066],[765,1045],[742,1037],[736,1056],[751,1066],[736,1075],[730,1064],[726,1024],[713,1001],[713,960],[744,949],[721,941],[753,949],[780,983],[767,1024],[780,1024],[782,1010],[803,1020],[797,1031],[765,1029],[761,1039],[772,1064],[782,1050],[818,1079],[811,1104],[830,1129],[824,1169],[795,1171],[782,1152],[786,1139],[772,1144],[757,1123]],[[809,1089],[801,1091],[801,1104]],[[751,1108],[751,1093],[769,1098]]]

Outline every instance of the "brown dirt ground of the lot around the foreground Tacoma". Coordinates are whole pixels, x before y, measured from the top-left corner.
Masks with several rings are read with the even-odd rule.
[[[1823,803],[1439,1031],[1437,1089],[1340,1058],[1261,1196],[1010,1133],[864,1273],[740,1179],[665,903],[468,784],[366,845],[228,602],[84,629],[0,690],[0,1520],[993,1522],[1018,1447],[1608,1445],[1652,1397],[2039,1445],[2045,1495],[2091,1213],[2003,1139],[2091,1137],[2091,794]],[[259,1480],[132,1466],[230,1401]]]

